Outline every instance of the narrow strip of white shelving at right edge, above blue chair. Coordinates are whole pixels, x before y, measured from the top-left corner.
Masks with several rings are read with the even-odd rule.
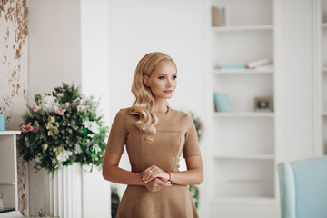
[[[327,155],[327,0],[316,0],[316,87],[317,95],[317,155]]]

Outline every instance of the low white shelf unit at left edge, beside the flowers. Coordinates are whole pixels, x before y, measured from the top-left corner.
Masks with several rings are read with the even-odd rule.
[[[0,217],[23,217],[18,211],[16,135],[20,131],[0,132],[0,193],[3,193],[5,211]]]

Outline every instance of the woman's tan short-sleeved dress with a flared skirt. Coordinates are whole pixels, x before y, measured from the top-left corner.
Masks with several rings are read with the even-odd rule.
[[[137,115],[129,114],[130,107],[115,116],[106,149],[123,154],[126,145],[132,172],[141,173],[156,165],[165,171],[177,172],[181,154],[200,155],[193,119],[189,114],[173,110],[158,116],[154,142],[145,140],[137,129]],[[128,185],[118,207],[117,218],[198,217],[187,186],[173,184],[158,192],[150,192],[143,185]]]

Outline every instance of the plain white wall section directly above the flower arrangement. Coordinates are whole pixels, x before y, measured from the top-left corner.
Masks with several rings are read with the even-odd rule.
[[[29,1],[28,102],[62,82],[81,84],[79,0]]]

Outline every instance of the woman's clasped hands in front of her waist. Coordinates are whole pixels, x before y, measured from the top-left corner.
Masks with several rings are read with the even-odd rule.
[[[169,174],[156,165],[152,165],[142,172],[142,179],[150,192],[157,192],[163,187],[172,186],[172,183],[168,181],[169,178]]]

